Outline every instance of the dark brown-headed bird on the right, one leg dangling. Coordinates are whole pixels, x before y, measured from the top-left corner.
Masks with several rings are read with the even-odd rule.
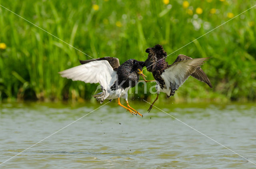
[[[150,105],[148,112],[158,99],[160,92],[166,93],[167,98],[173,96],[175,91],[188,79],[189,76],[204,82],[212,88],[209,78],[206,76],[200,66],[209,58],[190,58],[185,55],[178,55],[173,64],[166,62],[167,54],[162,45],[155,45],[153,48],[147,48],[148,58],[142,66],[146,66],[148,72],[152,72],[156,80],[157,96]]]

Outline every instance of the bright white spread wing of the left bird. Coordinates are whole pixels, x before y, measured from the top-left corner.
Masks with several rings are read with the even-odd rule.
[[[59,74],[73,81],[85,83],[99,83],[104,89],[108,89],[116,81],[116,71],[106,60],[92,61],[74,68],[59,72]]]

